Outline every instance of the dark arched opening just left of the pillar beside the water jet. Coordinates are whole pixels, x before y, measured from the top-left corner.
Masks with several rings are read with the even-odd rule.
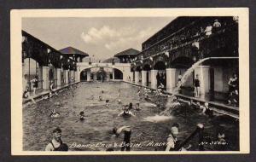
[[[166,62],[157,61],[154,64],[154,69],[158,71],[156,74],[157,87],[165,89],[166,88]]]

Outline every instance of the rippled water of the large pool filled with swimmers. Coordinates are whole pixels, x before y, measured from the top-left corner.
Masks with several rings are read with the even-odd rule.
[[[102,93],[103,90],[103,93]],[[137,95],[139,87],[122,82],[106,83],[79,83],[74,90],[64,90],[53,98],[38,101],[37,104],[23,107],[23,149],[26,151],[44,150],[52,139],[52,130],[60,127],[62,141],[67,145],[96,144],[99,142],[110,143],[113,127],[123,125],[131,126],[131,143],[143,143],[140,147],[132,147],[132,151],[155,151],[164,150],[163,146],[147,145],[150,142],[166,142],[173,123],[180,125],[178,140],[183,141],[196,128],[196,124],[204,124],[204,141],[216,141],[218,130],[224,130],[227,144],[224,146],[204,146],[205,150],[239,150],[239,122],[228,116],[216,114],[209,118],[197,110],[188,107],[175,108],[170,120],[160,123],[149,122],[147,117],[155,116],[162,110],[154,107],[148,101],[140,99]],[[118,97],[119,93],[119,97]],[[74,95],[73,95],[74,94]],[[92,96],[93,95],[93,96]],[[102,101],[98,96],[102,95]],[[156,104],[165,105],[166,98],[149,93],[149,98]],[[142,110],[131,110],[136,117],[124,118],[118,114],[122,112],[122,104],[140,103]],[[105,105],[109,100],[109,106]],[[55,110],[61,113],[58,119],[49,117],[50,112]],[[84,121],[79,120],[79,113],[84,111]],[[119,136],[116,142],[122,142]],[[195,136],[189,144],[189,150],[197,151],[199,148],[198,136]],[[104,147],[70,148],[75,151],[100,151]],[[115,150],[119,150],[116,148]]]

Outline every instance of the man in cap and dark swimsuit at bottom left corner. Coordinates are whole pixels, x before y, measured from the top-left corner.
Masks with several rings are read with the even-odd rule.
[[[61,129],[59,127],[53,130],[53,139],[46,146],[45,151],[68,151],[67,144],[61,141]]]

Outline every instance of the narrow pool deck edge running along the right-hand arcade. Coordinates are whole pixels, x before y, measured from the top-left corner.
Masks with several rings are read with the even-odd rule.
[[[126,81],[123,81],[123,82],[125,82],[127,84],[132,84],[135,86],[139,86],[139,87],[144,87],[144,88],[147,88],[150,90],[157,90],[157,89],[153,89],[151,87],[148,87],[148,86],[145,86],[142,84],[135,84],[135,83],[126,82]],[[166,90],[164,90],[164,93],[167,95],[172,95],[172,93],[166,92]],[[208,102],[209,107],[211,107],[213,111],[218,112],[218,113],[223,113],[223,114],[228,115],[235,119],[239,119],[239,107],[232,107],[232,106],[226,105],[224,103],[220,103],[218,101],[208,101],[207,99],[197,98],[197,97],[193,97],[193,96],[189,96],[189,95],[181,95],[181,94],[175,94],[175,95],[177,95],[179,98],[182,98],[184,101],[192,100],[192,101],[196,101],[196,102],[199,101],[201,103]]]

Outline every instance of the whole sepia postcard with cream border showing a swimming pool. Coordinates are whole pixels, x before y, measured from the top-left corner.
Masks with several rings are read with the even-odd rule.
[[[13,10],[12,153],[249,153],[247,9],[205,10]]]

